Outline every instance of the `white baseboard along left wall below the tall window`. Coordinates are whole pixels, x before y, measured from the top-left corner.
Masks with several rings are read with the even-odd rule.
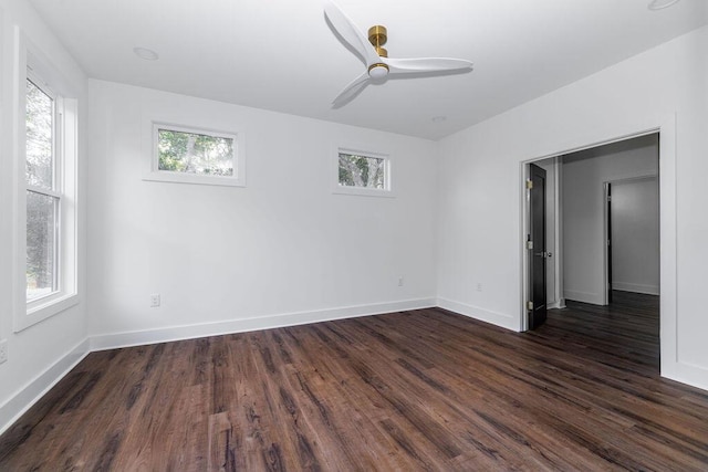
[[[8,430],[22,415],[24,415],[37,401],[44,396],[52,387],[69,374],[86,355],[88,350],[88,339],[84,339],[74,346],[69,353],[62,356],[43,373],[34,377],[28,385],[22,387],[15,395],[10,397],[0,406],[0,434]]]

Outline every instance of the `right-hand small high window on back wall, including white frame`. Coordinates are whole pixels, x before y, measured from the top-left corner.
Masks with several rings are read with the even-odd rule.
[[[387,155],[339,148],[336,156],[335,193],[393,196]]]

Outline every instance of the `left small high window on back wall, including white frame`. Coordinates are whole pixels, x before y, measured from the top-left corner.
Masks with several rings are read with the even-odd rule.
[[[146,180],[243,186],[237,135],[154,124],[154,156]]]

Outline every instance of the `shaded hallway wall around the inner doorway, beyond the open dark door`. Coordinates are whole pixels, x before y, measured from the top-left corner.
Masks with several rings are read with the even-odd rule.
[[[604,305],[604,182],[656,176],[657,136],[643,136],[564,156],[562,171],[564,297]],[[658,248],[653,259],[658,259]]]

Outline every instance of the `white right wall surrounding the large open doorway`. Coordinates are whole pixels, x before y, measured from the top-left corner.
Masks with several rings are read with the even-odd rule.
[[[662,373],[708,388],[707,83],[702,28],[444,139],[440,304],[519,329],[521,162],[662,127]]]

